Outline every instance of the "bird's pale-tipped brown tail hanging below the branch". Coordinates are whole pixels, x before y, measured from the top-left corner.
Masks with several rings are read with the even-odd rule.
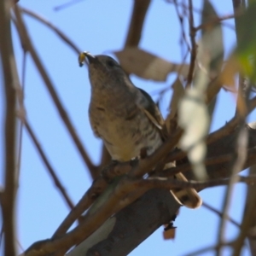
[[[181,172],[177,173],[174,178],[183,182],[188,181]],[[202,200],[195,189],[172,189],[171,193],[176,201],[185,207],[192,209],[201,207]]]

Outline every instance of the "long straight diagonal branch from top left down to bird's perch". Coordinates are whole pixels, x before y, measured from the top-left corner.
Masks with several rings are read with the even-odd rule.
[[[26,45],[27,51],[32,55],[32,60],[34,61],[36,67],[38,68],[38,72],[42,76],[42,79],[44,79],[44,84],[46,85],[47,89],[49,90],[50,96],[52,97],[53,101],[55,102],[55,106],[58,109],[58,112],[61,116],[62,121],[66,125],[67,131],[69,131],[69,134],[73,138],[73,142],[75,143],[76,147],[78,148],[79,154],[82,156],[84,163],[88,167],[91,177],[94,179],[96,177],[97,168],[96,168],[96,166],[93,165],[93,163],[90,160],[89,155],[85,151],[84,146],[81,143],[81,140],[79,139],[79,136],[78,136],[77,132],[75,131],[75,128],[73,127],[71,119],[69,118],[69,116],[67,114],[67,111],[63,107],[63,104],[61,103],[61,100],[56,93],[54,85],[50,81],[49,76],[46,73],[45,68],[42,64],[42,61],[40,61],[38,54],[32,45],[32,41],[29,38],[28,33],[26,31],[26,26],[24,24],[24,21],[23,21],[21,15],[20,15],[20,9],[15,6],[14,10],[15,10],[15,16],[18,20],[17,29],[20,34],[20,40],[23,42],[24,45]]]

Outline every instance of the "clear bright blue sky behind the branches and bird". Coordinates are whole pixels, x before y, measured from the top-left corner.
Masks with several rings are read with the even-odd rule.
[[[20,5],[32,9],[39,15],[52,22],[65,32],[81,50],[89,50],[92,54],[111,55],[113,51],[122,49],[129,26],[132,4],[131,0],[84,0],[70,8],[59,12],[54,7],[65,3],[58,1],[20,0]],[[201,1],[193,1],[195,8],[201,9]],[[232,1],[212,1],[219,15],[232,13]],[[198,17],[195,25],[199,25]],[[233,20],[225,22],[234,26]],[[88,106],[90,102],[90,84],[86,68],[79,68],[78,55],[63,44],[48,27],[32,18],[26,17],[32,42],[38,50],[44,67],[47,67],[50,79],[55,84],[61,102],[73,120],[84,147],[89,151],[94,162],[99,160],[102,146],[90,129]],[[14,29],[15,56],[19,72],[21,72],[22,50]],[[168,61],[181,61],[179,45],[180,26],[172,4],[163,0],[153,0],[146,17],[143,37],[140,47],[165,58]],[[225,56],[236,43],[236,35],[230,26],[224,26]],[[154,100],[156,91],[172,84],[174,75],[169,75],[164,83],[154,83],[131,77],[138,86],[147,90]],[[1,83],[3,83],[1,81]],[[25,106],[27,119],[32,124],[38,139],[61,178],[74,202],[78,202],[84,191],[89,188],[90,175],[81,160],[73,141],[70,139],[59,114],[38,71],[34,68],[30,56],[26,66]],[[166,99],[171,92],[166,95]],[[3,102],[3,94],[0,96]],[[222,91],[218,98],[218,108],[213,119],[212,131],[225,124],[235,113],[236,99]],[[1,103],[3,104],[3,103]],[[165,115],[167,101],[161,104],[161,111]],[[3,109],[3,108],[2,108]],[[3,110],[0,112],[3,120]],[[218,118],[217,118],[218,117]],[[250,115],[250,121],[256,120],[255,111]],[[3,139],[3,125],[0,126]],[[0,148],[0,165],[3,166],[3,146]],[[3,185],[3,175],[0,177]],[[236,185],[230,215],[236,221],[241,220],[245,186]],[[206,189],[201,192],[203,201],[219,210],[222,207],[224,188]],[[55,189],[51,178],[45,171],[41,159],[38,157],[30,137],[23,132],[22,159],[20,170],[20,187],[17,197],[17,234],[21,246],[26,249],[34,241],[49,238],[55,229],[67,216],[69,209],[62,200],[60,193]],[[164,241],[161,227],[146,241],[137,247],[130,255],[185,255],[202,247],[214,245],[218,236],[219,218],[213,212],[201,207],[198,210],[189,210],[182,207],[175,222],[177,226],[174,241]],[[238,232],[236,227],[229,224],[227,231],[228,241]],[[20,251],[21,252],[21,251]],[[2,252],[3,253],[3,252]],[[229,254],[229,251],[225,251]],[[213,255],[213,252],[204,255]],[[248,255],[244,250],[242,255]]]

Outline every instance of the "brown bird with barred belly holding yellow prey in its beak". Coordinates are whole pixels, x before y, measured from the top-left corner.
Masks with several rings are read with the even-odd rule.
[[[96,137],[102,138],[112,160],[129,161],[138,157],[143,148],[147,155],[153,154],[165,142],[167,130],[151,96],[137,88],[112,57],[84,51],[79,55],[80,66],[85,59],[91,89],[90,125]],[[187,181],[182,173],[174,178]],[[185,207],[201,206],[195,189],[171,189],[171,193]]]

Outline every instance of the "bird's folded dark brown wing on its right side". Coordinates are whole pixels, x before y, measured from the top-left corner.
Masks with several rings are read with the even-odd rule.
[[[139,108],[147,115],[148,119],[159,129],[163,140],[168,136],[165,120],[163,119],[159,108],[157,108],[151,96],[145,90],[138,88],[146,101],[139,102]]]

